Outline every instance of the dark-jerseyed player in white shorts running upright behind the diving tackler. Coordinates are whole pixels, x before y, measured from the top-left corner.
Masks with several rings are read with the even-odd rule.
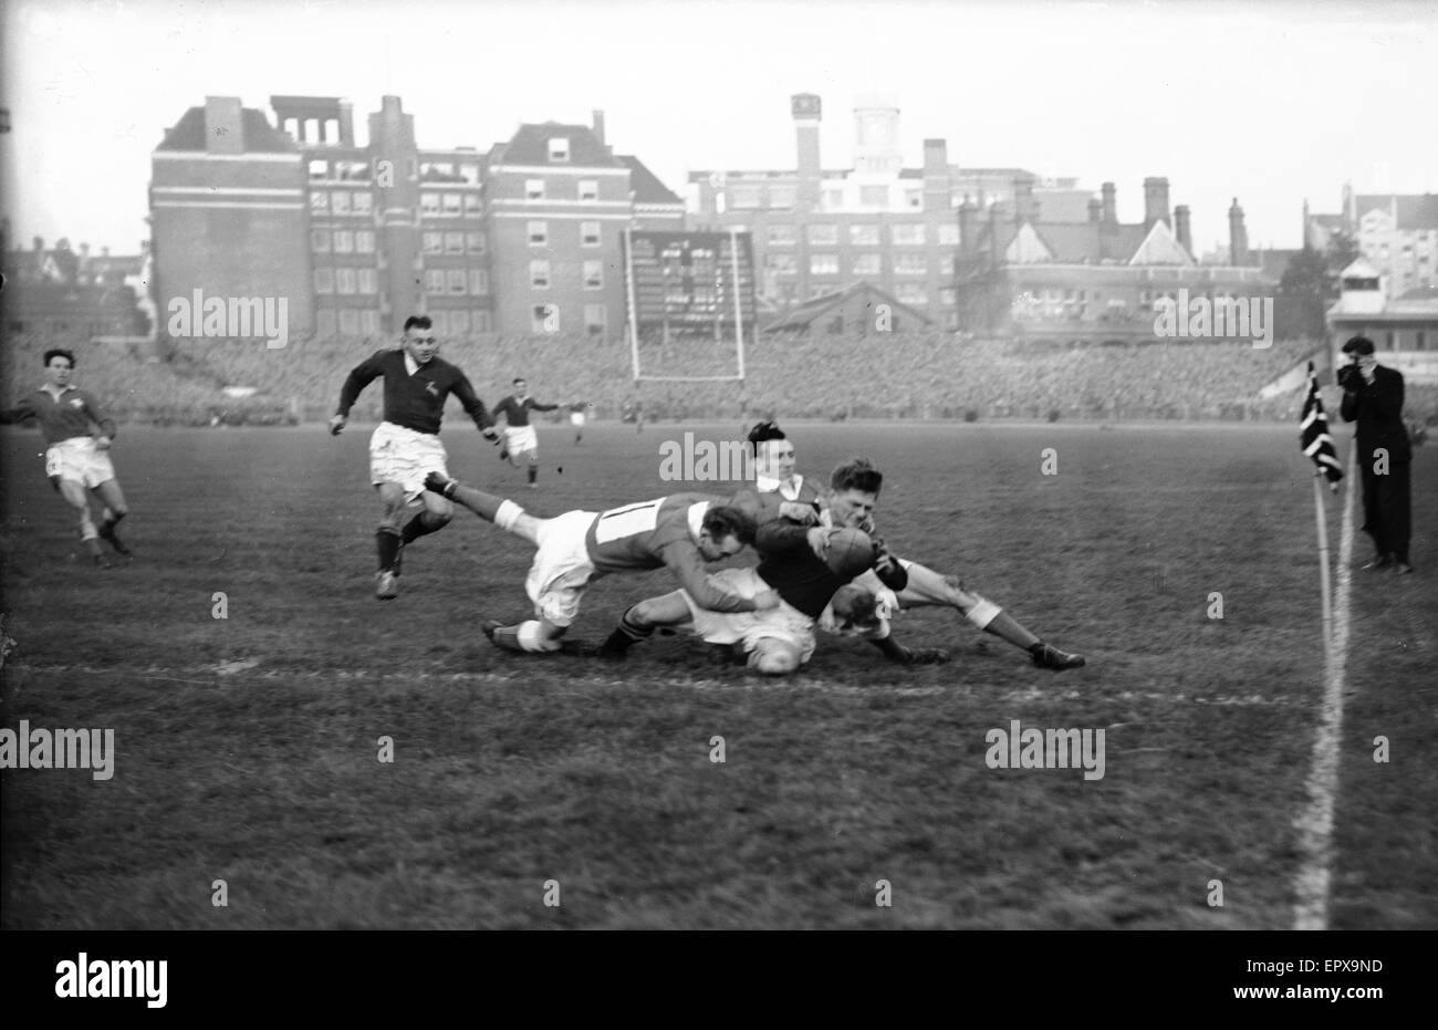
[[[380,491],[380,502],[384,505],[380,528],[374,535],[380,552],[374,596],[381,601],[400,594],[404,547],[443,529],[454,518],[454,505],[424,489],[429,473],[449,475],[444,468],[449,456],[439,437],[444,400],[453,393],[485,439],[499,439],[495,420],[475,394],[469,378],[443,361],[439,350],[430,319],[411,315],[404,322],[400,350],[375,351],[349,373],[339,390],[339,410],[329,420],[331,434],[338,436],[361,391],[375,378],[384,377],[384,421],[370,437],[370,479]],[[416,505],[420,511],[406,521],[406,512]]]

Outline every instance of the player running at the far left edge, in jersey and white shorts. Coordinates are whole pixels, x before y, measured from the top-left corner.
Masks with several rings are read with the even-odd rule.
[[[101,410],[93,394],[70,386],[73,374],[75,355],[70,351],[46,351],[45,384],[22,397],[17,407],[0,411],[0,424],[29,419],[40,423],[40,432],[49,445],[45,452],[45,475],[79,515],[81,542],[91,560],[104,565],[99,539],[115,548],[116,554],[129,557],[129,548],[115,534],[115,525],[129,508],[109,460],[115,421]],[[86,491],[93,492],[102,503],[98,529],[91,516]]]

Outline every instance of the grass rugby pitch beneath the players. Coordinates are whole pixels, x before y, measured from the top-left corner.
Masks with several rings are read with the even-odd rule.
[[[684,488],[660,482],[659,445],[686,429],[738,432],[598,426],[577,447],[541,427],[536,492],[462,420],[444,439],[454,475],[554,515]],[[0,925],[1293,925],[1323,695],[1296,426],[787,429],[814,478],[876,460],[896,552],[1089,666],[1037,670],[940,610],[896,623],[953,650],[916,670],[835,639],[787,680],[713,666],[683,637],[620,666],[496,652],[479,620],[526,611],[529,547],[460,512],[377,603],[362,427],[124,433],[137,557],[92,570],[39,434],[0,436],[0,725],[115,735],[108,781],[3,774]],[[1041,475],[1047,447],[1057,475]],[[1416,450],[1412,478],[1418,574],[1353,581],[1336,928],[1438,928],[1438,449]],[[1336,555],[1340,498],[1329,528]],[[574,634],[669,588],[663,573],[603,580]],[[985,734],[1014,719],[1103,729],[1103,778],[991,770]]]

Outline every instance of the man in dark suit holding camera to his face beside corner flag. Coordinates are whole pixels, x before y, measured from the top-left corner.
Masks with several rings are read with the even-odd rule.
[[[1373,357],[1373,341],[1353,337],[1343,344],[1350,364],[1339,368],[1345,421],[1357,423],[1357,460],[1363,473],[1363,532],[1373,538],[1378,555],[1363,565],[1370,571],[1414,571],[1408,564],[1411,495],[1408,468],[1412,449],[1403,426],[1403,375]]]

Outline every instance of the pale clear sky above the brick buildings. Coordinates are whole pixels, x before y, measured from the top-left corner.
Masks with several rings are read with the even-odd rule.
[[[824,101],[825,168],[851,167],[853,106],[900,108],[966,167],[1117,184],[1192,209],[1227,246],[1300,245],[1303,200],[1438,193],[1438,3],[1051,0],[10,0],[0,211],[13,239],[135,253],[150,155],[207,95],[273,121],[280,94],[342,96],[364,141],[397,94],[421,147],[487,150],[521,122],[590,122],[683,194],[700,168],[792,168],[789,95]]]

